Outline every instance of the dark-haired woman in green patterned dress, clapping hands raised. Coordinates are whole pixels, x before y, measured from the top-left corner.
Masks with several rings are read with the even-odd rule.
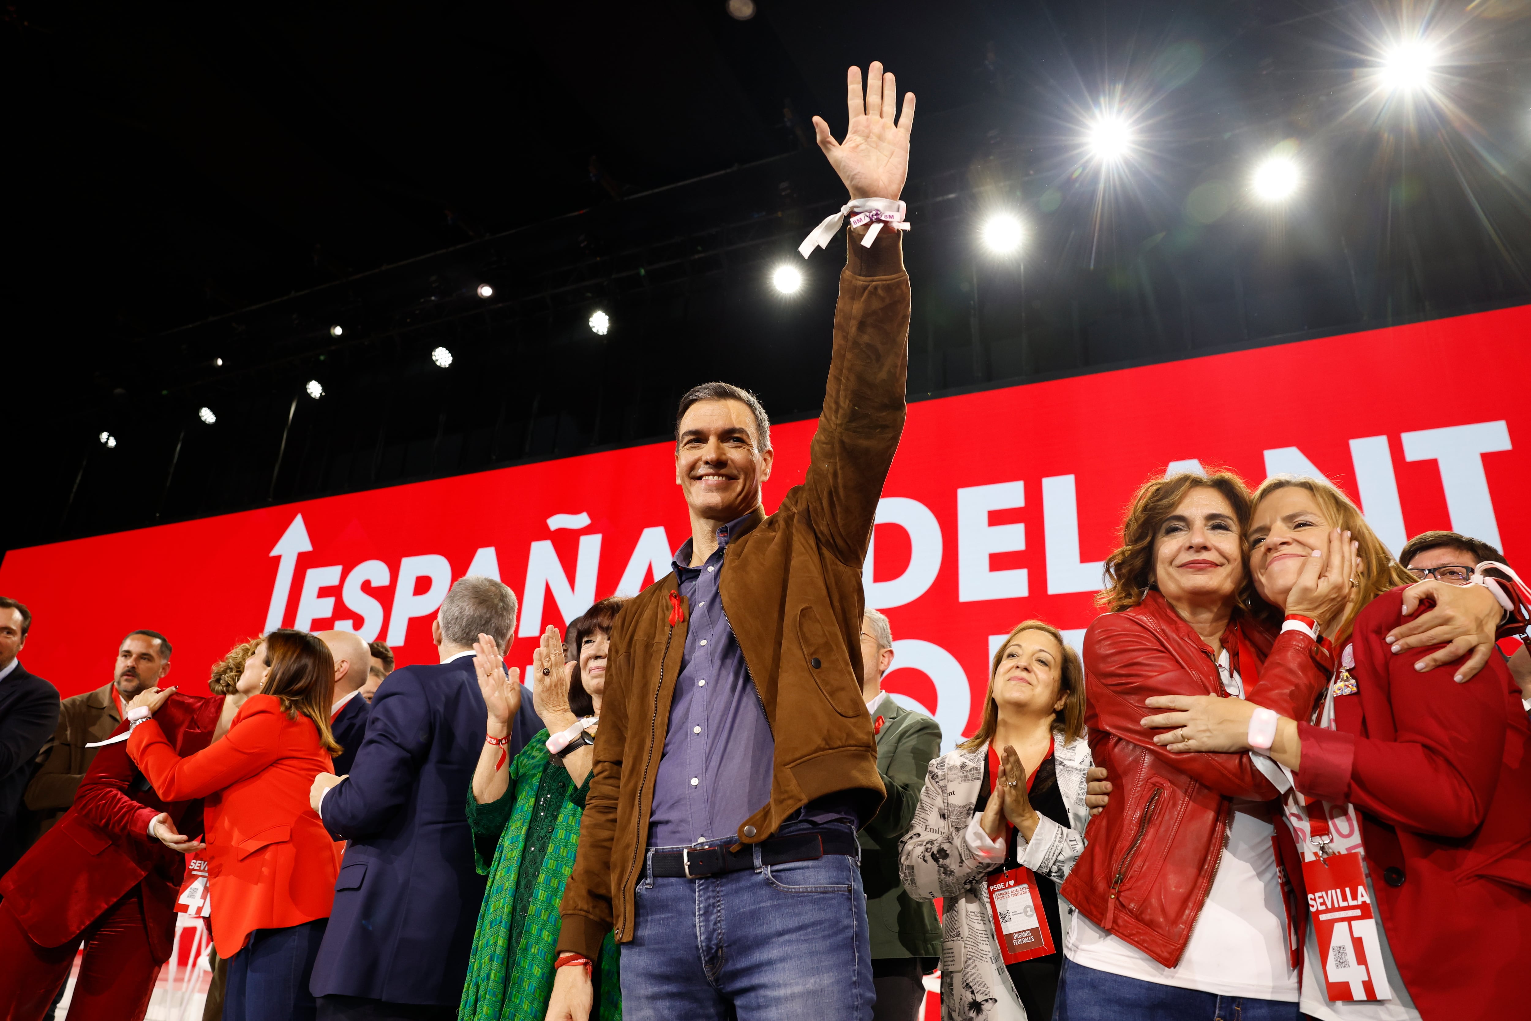
[[[459,1021],[544,1021],[557,957],[559,903],[574,868],[579,824],[594,764],[579,741],[550,755],[550,733],[600,716],[606,686],[606,644],[623,600],[603,599],[570,625],[568,655],[557,628],[548,628],[533,655],[531,700],[547,730],[505,762],[504,749],[485,744],[468,791],[478,871],[488,876],[473,931],[473,955],[462,986]],[[488,707],[488,738],[510,733],[521,704],[517,670],[505,675],[495,640],[479,635],[473,651],[479,689]],[[565,661],[568,660],[568,661]],[[594,738],[594,726],[586,733]],[[591,1021],[622,1018],[617,944],[611,934],[596,966]]]

